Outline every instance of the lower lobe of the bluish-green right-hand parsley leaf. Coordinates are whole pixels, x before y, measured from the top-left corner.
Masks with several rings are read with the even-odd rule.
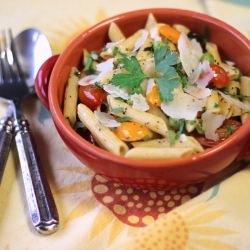
[[[160,99],[162,101],[173,100],[173,90],[181,85],[180,76],[173,67],[166,67],[166,71],[162,77],[156,77],[158,83]]]

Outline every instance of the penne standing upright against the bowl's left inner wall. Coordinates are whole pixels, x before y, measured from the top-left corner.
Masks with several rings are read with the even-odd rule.
[[[65,95],[64,95],[64,105],[63,105],[63,115],[73,126],[76,122],[76,106],[78,100],[78,81],[76,73],[77,68],[72,68],[70,76],[66,85]]]

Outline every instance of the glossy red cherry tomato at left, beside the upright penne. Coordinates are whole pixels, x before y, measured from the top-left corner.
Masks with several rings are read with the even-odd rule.
[[[78,96],[80,102],[92,110],[95,110],[106,99],[105,91],[94,85],[80,86]]]

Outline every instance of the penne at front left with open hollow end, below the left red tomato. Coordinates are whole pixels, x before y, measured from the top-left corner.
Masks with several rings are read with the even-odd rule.
[[[78,117],[88,128],[97,144],[116,155],[124,155],[128,151],[126,143],[121,141],[109,128],[101,125],[94,113],[84,104],[78,105]]]

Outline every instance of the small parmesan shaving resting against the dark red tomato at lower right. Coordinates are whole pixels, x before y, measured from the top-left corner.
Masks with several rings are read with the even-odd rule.
[[[215,133],[215,131],[223,124],[225,117],[223,115],[216,115],[206,111],[201,115],[201,119],[205,137],[207,139],[217,141],[219,136]]]

